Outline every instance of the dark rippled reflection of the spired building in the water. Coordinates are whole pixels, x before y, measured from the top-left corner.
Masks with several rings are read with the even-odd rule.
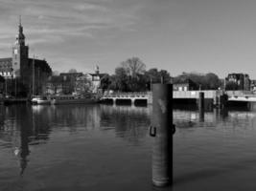
[[[29,163],[30,145],[48,139],[48,120],[44,115],[34,113],[27,105],[1,107],[0,110],[0,148],[13,148],[22,176]]]

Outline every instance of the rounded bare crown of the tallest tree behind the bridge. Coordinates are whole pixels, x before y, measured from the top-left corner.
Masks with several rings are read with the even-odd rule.
[[[135,77],[137,74],[144,74],[146,70],[146,65],[138,57],[128,58],[121,65],[131,77]]]

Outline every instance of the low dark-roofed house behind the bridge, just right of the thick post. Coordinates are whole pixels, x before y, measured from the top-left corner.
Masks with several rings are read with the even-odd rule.
[[[186,77],[174,80],[173,87],[174,91],[191,91],[198,89],[198,85],[194,81]]]

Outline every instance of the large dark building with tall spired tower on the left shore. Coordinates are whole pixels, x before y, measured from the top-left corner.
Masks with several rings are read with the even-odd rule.
[[[19,86],[15,90],[22,92],[23,96],[29,96],[41,94],[45,87],[44,83],[51,74],[52,69],[45,60],[29,57],[29,47],[25,44],[25,35],[20,21],[18,34],[12,46],[12,57],[0,58],[0,75],[8,81],[14,80],[15,86],[17,84]]]

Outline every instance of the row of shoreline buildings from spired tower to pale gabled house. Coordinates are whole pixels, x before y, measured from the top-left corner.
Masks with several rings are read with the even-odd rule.
[[[97,93],[104,77],[99,67],[94,74],[52,75],[52,69],[45,59],[29,57],[21,20],[12,46],[12,56],[0,58],[0,94],[6,96]]]

